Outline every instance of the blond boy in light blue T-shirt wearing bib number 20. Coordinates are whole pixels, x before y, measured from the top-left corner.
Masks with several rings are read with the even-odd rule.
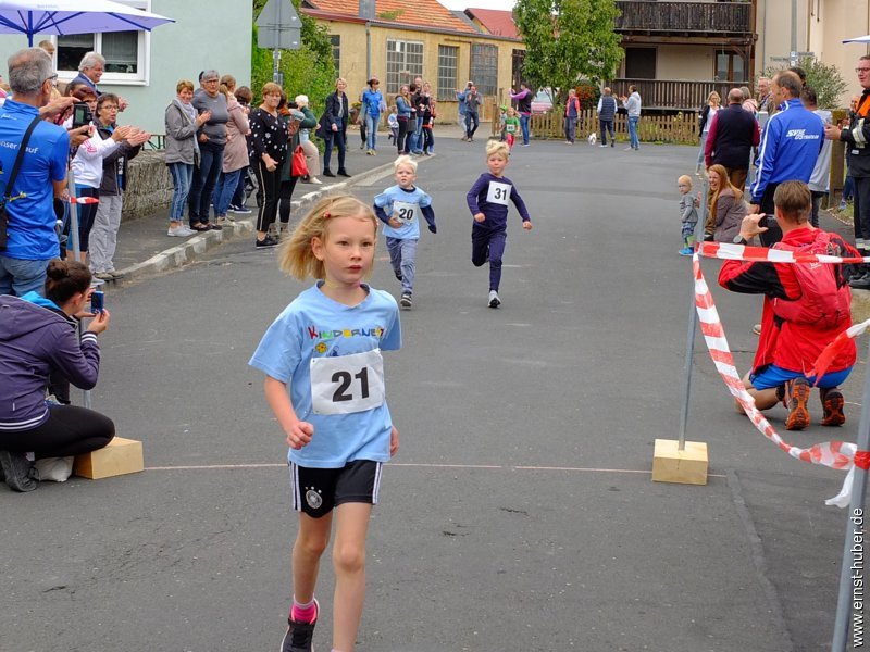
[[[399,156],[393,164],[396,185],[374,198],[374,212],[386,226],[387,251],[393,273],[401,281],[402,308],[413,305],[414,274],[417,272],[417,242],[420,240],[420,214],[426,218],[428,230],[437,233],[432,198],[420,188],[417,180],[417,161]]]

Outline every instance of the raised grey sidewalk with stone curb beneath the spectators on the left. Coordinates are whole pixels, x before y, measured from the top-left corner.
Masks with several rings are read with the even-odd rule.
[[[481,128],[483,129],[483,127],[482,125]],[[436,152],[438,139],[458,140],[460,137],[461,131],[457,125],[436,125]],[[387,139],[387,134],[383,131],[377,135],[377,146],[378,155],[366,155],[365,151],[360,149],[359,131],[356,129],[348,130],[346,166],[353,176],[349,179],[343,177],[328,179],[320,176],[321,180],[324,181],[322,186],[297,184],[294,191],[291,221],[298,220],[300,211],[306,205],[316,201],[325,192],[339,192],[373,176],[389,173],[393,162],[396,160],[395,146]],[[334,162],[336,154],[334,153]],[[327,181],[333,183],[330,184]],[[253,247],[253,229],[257,220],[257,204],[253,196],[248,201],[248,208],[253,211],[251,215],[231,214],[231,217],[235,217],[236,221],[232,225],[224,226],[223,230],[206,231],[189,238],[171,238],[166,236],[169,209],[161,209],[146,217],[122,222],[117,234],[117,250],[114,256],[115,268],[124,274],[121,283],[139,280],[153,274],[181,267],[195,261],[209,249],[235,238],[249,238],[251,247]],[[115,281],[109,283],[113,284]]]

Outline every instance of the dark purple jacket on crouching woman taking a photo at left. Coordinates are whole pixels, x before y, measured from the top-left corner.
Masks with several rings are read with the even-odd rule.
[[[73,318],[36,292],[0,296],[0,448],[4,431],[48,419],[46,386],[54,369],[82,389],[97,385],[97,335],[85,333],[79,343]]]

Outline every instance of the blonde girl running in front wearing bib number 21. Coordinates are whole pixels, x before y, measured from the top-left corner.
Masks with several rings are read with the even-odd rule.
[[[374,263],[377,218],[361,201],[319,201],[281,250],[281,268],[318,279],[269,327],[249,364],[287,444],[299,512],[293,606],[282,652],[313,650],[320,561],[335,528],[333,650],[352,652],[365,595],[365,535],[382,465],[399,448],[385,401],[382,350],[401,347],[399,309],[362,283]]]

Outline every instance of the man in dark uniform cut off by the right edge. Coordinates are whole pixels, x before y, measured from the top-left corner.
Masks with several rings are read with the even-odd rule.
[[[841,129],[835,125],[825,125],[824,136],[830,140],[842,140],[848,151],[849,175],[854,185],[855,247],[862,256],[870,255],[870,54],[858,59],[855,67],[858,84],[861,85],[861,97],[857,110],[850,115],[848,128]],[[870,290],[870,266],[862,265],[858,274],[853,275],[849,285],[858,290]]]

